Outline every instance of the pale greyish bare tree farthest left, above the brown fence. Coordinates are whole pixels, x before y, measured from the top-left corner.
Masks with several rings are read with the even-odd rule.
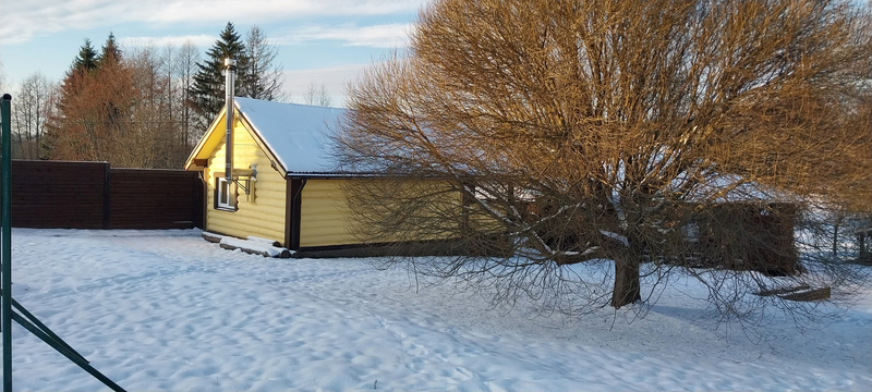
[[[43,73],[36,72],[19,87],[12,115],[13,133],[22,159],[43,159],[43,136],[55,109],[57,88]]]

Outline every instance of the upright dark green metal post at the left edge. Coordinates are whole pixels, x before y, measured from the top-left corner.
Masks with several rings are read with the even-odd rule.
[[[12,124],[10,123],[10,107],[12,96],[3,94],[0,101],[0,122],[2,122],[2,169],[0,169],[0,224],[2,224],[2,328],[3,328],[3,392],[12,392]]]

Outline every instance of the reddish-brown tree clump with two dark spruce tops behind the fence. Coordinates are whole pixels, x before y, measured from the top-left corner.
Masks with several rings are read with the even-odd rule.
[[[190,78],[178,81],[177,50],[148,44],[122,51],[111,38],[99,57],[83,47],[68,73],[47,125],[48,158],[181,167],[190,152],[184,133],[191,124],[184,96]]]

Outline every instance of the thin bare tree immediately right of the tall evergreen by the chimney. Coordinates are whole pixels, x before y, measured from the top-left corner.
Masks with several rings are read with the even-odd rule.
[[[283,100],[282,84],[284,83],[283,66],[276,62],[278,48],[270,42],[261,27],[254,25],[245,35],[246,56],[249,57],[249,82],[244,95],[265,100]]]

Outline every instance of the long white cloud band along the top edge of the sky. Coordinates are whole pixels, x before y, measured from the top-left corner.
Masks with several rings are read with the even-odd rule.
[[[0,42],[124,23],[168,27],[175,23],[299,20],[316,16],[414,12],[426,0],[20,0],[3,2]]]

